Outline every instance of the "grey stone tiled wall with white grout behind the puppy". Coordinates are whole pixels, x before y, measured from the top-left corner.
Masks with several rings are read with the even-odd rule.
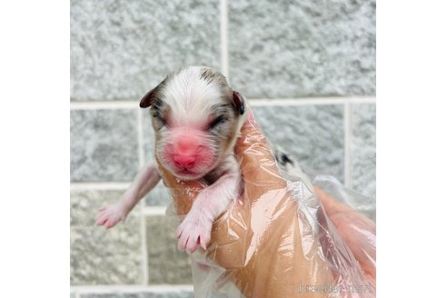
[[[192,296],[163,185],[94,226],[151,158],[139,99],[180,65],[220,69],[305,169],[375,196],[375,1],[72,0],[73,297]]]

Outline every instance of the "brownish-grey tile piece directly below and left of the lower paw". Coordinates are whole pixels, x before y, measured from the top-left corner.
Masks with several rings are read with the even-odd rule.
[[[178,222],[170,216],[146,216],[149,283],[193,283],[191,260],[177,250]]]

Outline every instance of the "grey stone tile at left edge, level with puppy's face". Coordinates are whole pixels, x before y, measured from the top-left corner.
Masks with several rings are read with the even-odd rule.
[[[72,182],[131,181],[138,164],[136,110],[72,110]]]

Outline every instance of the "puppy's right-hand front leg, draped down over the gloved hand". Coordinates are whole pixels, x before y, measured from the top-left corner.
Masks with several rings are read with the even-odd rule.
[[[199,246],[204,249],[209,246],[214,219],[222,214],[239,194],[240,184],[239,171],[230,172],[202,190],[190,212],[178,227],[177,238],[180,250],[194,253]]]

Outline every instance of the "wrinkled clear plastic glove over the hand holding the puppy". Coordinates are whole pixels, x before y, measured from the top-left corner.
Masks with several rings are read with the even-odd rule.
[[[211,246],[191,254],[194,296],[374,297],[375,285],[324,212],[311,180],[297,164],[278,167],[253,116],[235,153],[244,191],[214,222]],[[206,185],[178,181],[163,170],[162,176],[174,199],[167,214],[178,224]],[[375,210],[373,200],[333,177],[315,176],[313,183],[334,196],[342,194],[339,199],[348,204]],[[375,231],[355,223],[352,228],[373,245],[374,253],[360,249],[375,271]]]

